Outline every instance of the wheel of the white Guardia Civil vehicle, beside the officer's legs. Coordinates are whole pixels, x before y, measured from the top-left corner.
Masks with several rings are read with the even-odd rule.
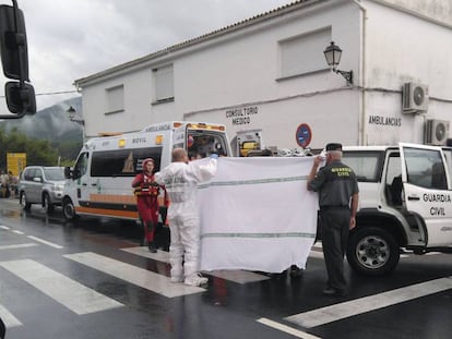
[[[352,268],[366,276],[392,273],[401,257],[394,237],[377,227],[353,231],[348,239],[347,261]]]

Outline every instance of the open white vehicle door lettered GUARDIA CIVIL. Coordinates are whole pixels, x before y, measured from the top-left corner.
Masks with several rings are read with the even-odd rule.
[[[452,191],[441,147],[400,144],[406,209],[420,216],[428,247],[452,245]]]

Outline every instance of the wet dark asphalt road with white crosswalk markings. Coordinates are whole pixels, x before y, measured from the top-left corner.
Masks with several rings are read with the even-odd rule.
[[[183,289],[166,278],[167,253],[152,256],[140,235],[115,220],[66,223],[59,209],[47,217],[0,199],[7,339],[451,338],[451,255],[402,258],[388,277],[348,271],[346,298],[321,294],[321,249],[298,278],[207,273],[205,289]]]

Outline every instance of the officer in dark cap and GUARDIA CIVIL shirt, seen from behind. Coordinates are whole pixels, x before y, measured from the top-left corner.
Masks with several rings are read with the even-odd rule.
[[[356,226],[359,190],[356,174],[342,162],[342,145],[328,144],[326,165],[319,169],[323,156],[314,158],[308,175],[309,191],[319,192],[320,225],[328,281],[325,295],[343,296],[347,293],[344,255],[348,232]]]

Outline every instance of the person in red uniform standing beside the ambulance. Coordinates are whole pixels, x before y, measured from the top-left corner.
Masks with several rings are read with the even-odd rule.
[[[154,235],[158,222],[158,194],[164,186],[154,181],[154,160],[147,158],[143,160],[143,172],[136,174],[132,181],[132,187],[136,196],[136,205],[140,219],[144,229],[144,241],[147,243],[150,252],[157,252]]]

